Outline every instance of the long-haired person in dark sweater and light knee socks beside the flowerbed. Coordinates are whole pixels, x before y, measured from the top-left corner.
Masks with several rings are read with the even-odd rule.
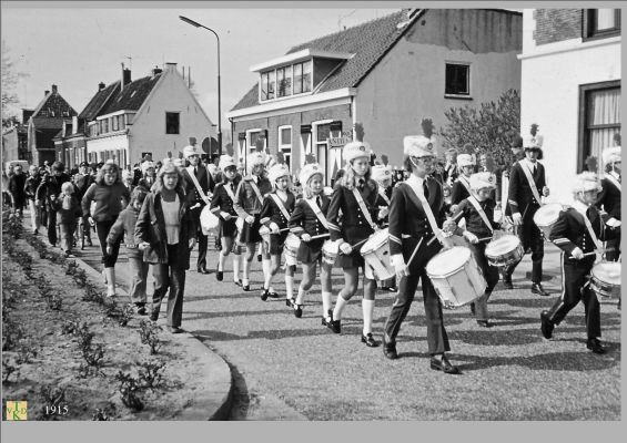
[[[107,251],[107,236],[118,216],[131,199],[127,186],[122,184],[120,168],[112,161],[108,161],[98,172],[95,183],[87,190],[82,199],[83,225],[95,223],[95,231],[102,251],[104,264],[104,280],[107,284],[107,297],[115,295],[115,262],[120,251],[120,241],[113,244],[111,254]],[[91,213],[91,202],[95,202]],[[84,219],[87,218],[87,219]]]

